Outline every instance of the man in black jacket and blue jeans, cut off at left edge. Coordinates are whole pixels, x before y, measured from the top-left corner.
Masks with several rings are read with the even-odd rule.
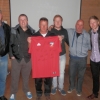
[[[7,100],[4,96],[8,68],[8,51],[10,40],[10,26],[2,22],[0,10],[0,100]]]

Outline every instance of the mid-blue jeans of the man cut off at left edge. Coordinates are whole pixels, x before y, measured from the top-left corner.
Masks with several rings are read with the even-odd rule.
[[[0,57],[0,97],[4,95],[8,69],[8,55]]]

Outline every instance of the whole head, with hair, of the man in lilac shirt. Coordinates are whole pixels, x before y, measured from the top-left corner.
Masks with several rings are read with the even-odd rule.
[[[89,18],[90,27],[95,31],[98,29],[99,26],[99,19],[97,16],[91,16]]]

